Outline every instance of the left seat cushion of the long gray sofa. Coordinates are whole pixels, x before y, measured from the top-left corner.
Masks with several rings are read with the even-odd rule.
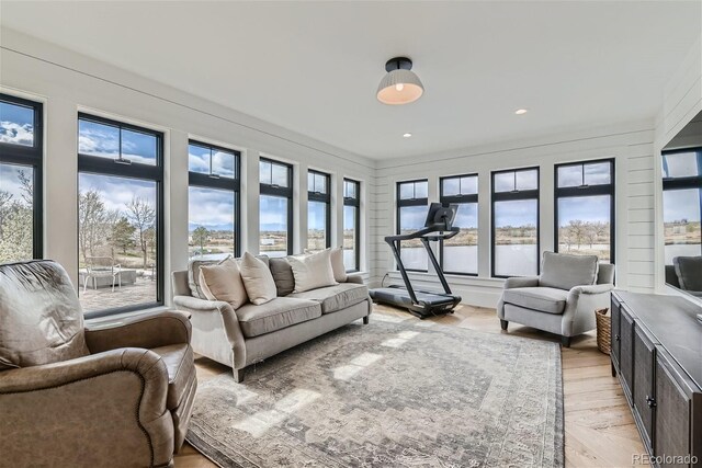
[[[321,317],[321,307],[313,300],[278,297],[260,306],[247,304],[236,315],[244,335],[253,338]]]

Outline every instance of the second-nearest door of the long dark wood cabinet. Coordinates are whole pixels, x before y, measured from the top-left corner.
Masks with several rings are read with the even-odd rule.
[[[632,400],[644,445],[653,447],[654,438],[654,372],[656,346],[648,333],[636,323],[634,328],[634,386]]]

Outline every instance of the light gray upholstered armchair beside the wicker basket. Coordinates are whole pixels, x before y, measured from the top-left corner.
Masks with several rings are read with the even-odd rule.
[[[544,252],[542,274],[505,282],[497,316],[502,330],[510,321],[570,338],[596,328],[595,310],[610,307],[614,265],[595,255]]]

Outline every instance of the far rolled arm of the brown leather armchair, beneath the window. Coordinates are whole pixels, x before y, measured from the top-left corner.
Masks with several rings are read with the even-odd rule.
[[[145,313],[120,323],[86,326],[86,343],[91,353],[121,347],[159,347],[190,343],[190,315],[171,310]]]

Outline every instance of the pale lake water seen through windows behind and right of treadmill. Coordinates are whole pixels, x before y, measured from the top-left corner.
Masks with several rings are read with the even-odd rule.
[[[429,259],[424,248],[407,248],[400,250],[403,263],[409,270],[427,270]],[[477,246],[446,247],[443,255],[444,270],[455,273],[475,273],[478,265]],[[536,275],[539,255],[536,246],[496,246],[495,273],[501,276]]]

